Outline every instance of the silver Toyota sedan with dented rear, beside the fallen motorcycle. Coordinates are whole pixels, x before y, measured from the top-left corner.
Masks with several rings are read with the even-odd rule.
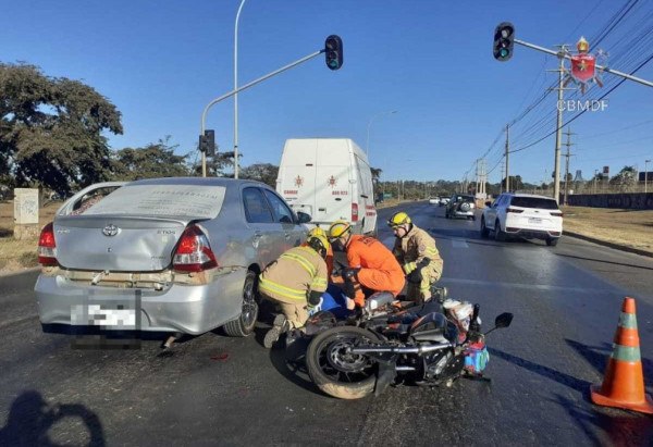
[[[108,186],[114,190],[96,194]],[[252,181],[88,187],[40,235],[35,291],[44,331],[59,324],[196,335],[222,326],[246,336],[258,316],[258,274],[305,240],[309,221]]]

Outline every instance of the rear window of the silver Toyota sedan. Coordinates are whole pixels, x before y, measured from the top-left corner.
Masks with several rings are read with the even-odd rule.
[[[84,212],[213,219],[224,200],[223,186],[133,185],[123,186],[101,198]]]

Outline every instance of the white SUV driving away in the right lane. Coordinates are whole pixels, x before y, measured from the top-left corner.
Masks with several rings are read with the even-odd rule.
[[[544,239],[546,245],[555,246],[563,234],[563,212],[551,197],[506,193],[485,206],[482,237],[493,231],[496,240],[517,236]]]

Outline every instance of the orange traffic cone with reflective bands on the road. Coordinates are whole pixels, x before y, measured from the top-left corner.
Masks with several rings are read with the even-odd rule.
[[[653,400],[644,394],[644,373],[634,313],[634,299],[624,298],[603,384],[592,385],[590,392],[592,401],[596,405],[653,414]]]

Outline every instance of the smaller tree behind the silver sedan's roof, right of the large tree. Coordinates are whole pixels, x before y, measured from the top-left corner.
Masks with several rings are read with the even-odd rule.
[[[170,136],[145,148],[124,148],[115,152],[112,179],[182,177],[190,174],[186,156],[175,156],[177,146],[170,146]]]

